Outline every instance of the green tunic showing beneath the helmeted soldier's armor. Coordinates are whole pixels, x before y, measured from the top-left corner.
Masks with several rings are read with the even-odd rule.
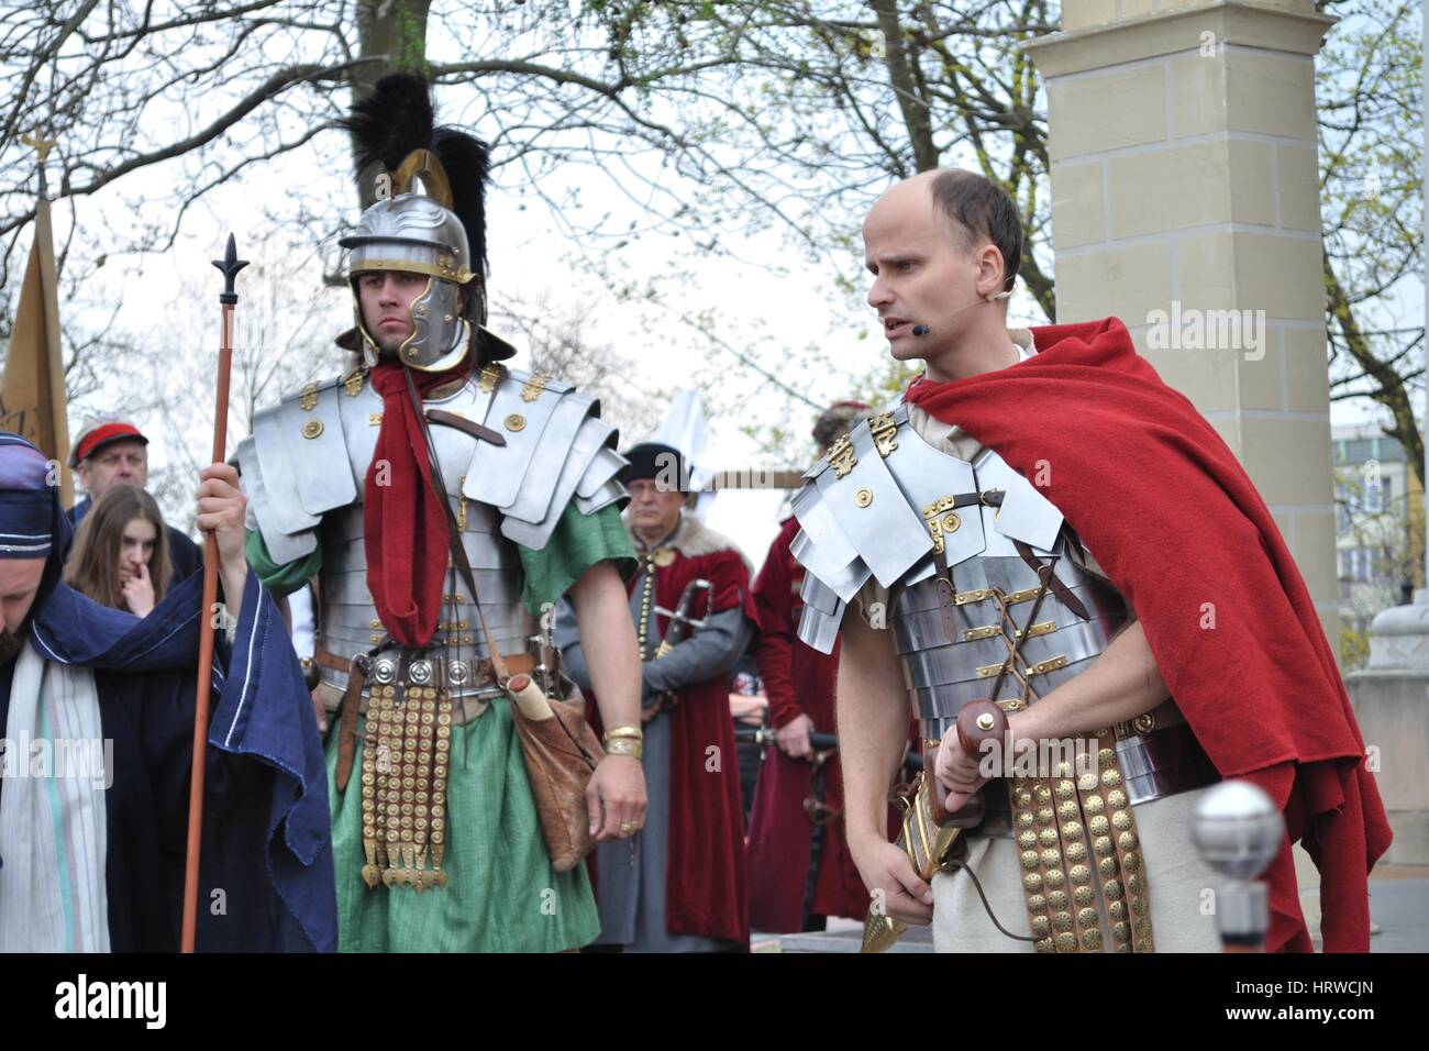
[[[613,561],[624,579],[637,568],[613,505],[590,516],[569,506],[542,551],[517,548],[526,576],[522,599],[533,615],[596,562]],[[247,556],[274,595],[296,591],[322,569],[322,548],[276,565],[256,532],[247,535]],[[362,769],[363,722],[354,772]],[[506,699],[452,728],[446,889],[367,888],[360,875],[366,861],[360,784],[353,779],[339,792],[336,769],[337,734],[330,734],[327,792],[343,952],[554,952],[587,945],[600,932],[586,867],[563,874],[550,867]]]

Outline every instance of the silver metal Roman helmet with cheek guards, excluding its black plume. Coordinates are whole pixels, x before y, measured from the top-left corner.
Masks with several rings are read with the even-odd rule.
[[[470,292],[457,307],[457,289],[477,276],[466,229],[454,212],[433,197],[399,193],[363,212],[357,229],[339,245],[352,249],[347,285],[362,335],[362,355],[377,363],[379,345],[362,316],[359,280],[364,273],[397,270],[427,277],[426,290],[412,300],[412,335],[397,347],[403,365],[420,372],[442,372],[462,360],[472,343],[469,315],[476,302]]]

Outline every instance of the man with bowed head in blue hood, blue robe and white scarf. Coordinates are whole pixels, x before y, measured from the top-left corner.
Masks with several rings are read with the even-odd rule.
[[[0,951],[179,948],[203,575],[144,619],[61,583],[53,465],[0,432]],[[322,746],[237,472],[200,472],[219,548],[200,949],[336,948]],[[229,611],[237,613],[236,622]]]

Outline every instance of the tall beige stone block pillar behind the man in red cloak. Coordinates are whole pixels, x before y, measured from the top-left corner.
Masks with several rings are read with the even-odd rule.
[[[1065,0],[1057,320],[1116,315],[1265,498],[1339,652],[1312,0]]]

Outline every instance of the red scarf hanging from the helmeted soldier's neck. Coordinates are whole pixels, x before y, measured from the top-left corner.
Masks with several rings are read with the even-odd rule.
[[[446,372],[413,372],[417,393],[462,379],[463,362]],[[404,646],[424,646],[437,628],[446,578],[446,512],[432,492],[432,459],[423,420],[407,393],[406,366],[383,362],[372,369],[382,395],[382,429],[367,466],[363,493],[363,542],[367,589],[387,632]]]

